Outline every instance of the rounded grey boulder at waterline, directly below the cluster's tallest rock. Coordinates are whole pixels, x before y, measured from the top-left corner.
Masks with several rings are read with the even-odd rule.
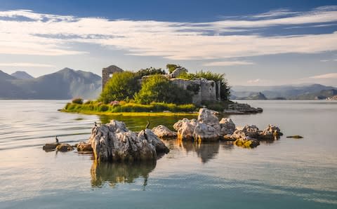
[[[213,126],[205,123],[197,123],[193,131],[194,140],[199,141],[215,141],[219,140],[220,132]]]

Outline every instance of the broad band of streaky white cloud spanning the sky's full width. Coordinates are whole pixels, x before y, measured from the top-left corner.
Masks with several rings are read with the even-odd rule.
[[[289,13],[291,17],[275,18],[289,15]],[[2,11],[0,12],[0,54],[77,55],[89,53],[85,50],[74,50],[70,47],[74,43],[99,44],[126,50],[126,53],[130,55],[161,56],[171,60],[228,59],[337,50],[337,32],[298,36],[222,34],[274,25],[337,21],[337,9],[333,7],[317,8],[307,13],[272,11],[263,15],[271,19],[191,23],[107,20],[105,18],[41,14],[33,11]],[[29,21],[19,20],[18,17],[29,18]],[[205,65],[251,64],[244,61],[225,61],[209,62]]]

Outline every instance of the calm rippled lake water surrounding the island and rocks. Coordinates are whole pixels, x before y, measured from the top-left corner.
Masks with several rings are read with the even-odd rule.
[[[337,208],[337,102],[249,101],[264,112],[230,116],[237,126],[272,123],[304,139],[256,149],[171,140],[169,154],[145,165],[43,151],[55,135],[74,144],[110,120],[57,112],[65,102],[0,100],[0,208]],[[115,119],[140,130],[147,117]]]

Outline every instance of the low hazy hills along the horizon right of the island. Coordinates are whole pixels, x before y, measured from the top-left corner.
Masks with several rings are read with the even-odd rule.
[[[249,97],[254,93],[263,93],[267,99],[277,100],[322,100],[335,93],[337,88],[312,84],[306,86],[234,86],[232,97]]]

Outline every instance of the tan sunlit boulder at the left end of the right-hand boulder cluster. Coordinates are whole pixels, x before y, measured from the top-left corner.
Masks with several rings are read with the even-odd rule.
[[[174,123],[173,128],[178,132],[178,139],[180,140],[192,140],[194,128],[197,126],[196,119],[183,119]]]

